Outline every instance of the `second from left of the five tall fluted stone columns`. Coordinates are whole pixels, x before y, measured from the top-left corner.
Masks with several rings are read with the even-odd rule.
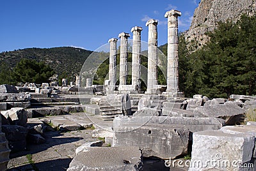
[[[118,35],[121,38],[120,42],[120,75],[119,85],[126,85],[127,81],[127,57],[128,57],[128,40],[130,37],[129,33],[120,33]]]

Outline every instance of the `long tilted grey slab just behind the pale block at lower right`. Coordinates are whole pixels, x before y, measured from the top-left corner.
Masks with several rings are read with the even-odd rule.
[[[245,110],[235,102],[229,101],[225,104],[197,107],[194,110],[195,117],[216,117],[225,119],[227,125],[235,125],[243,122]]]

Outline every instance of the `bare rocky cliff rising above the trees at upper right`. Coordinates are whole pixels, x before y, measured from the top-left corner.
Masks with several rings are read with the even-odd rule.
[[[228,19],[236,22],[243,13],[253,15],[255,11],[256,0],[202,0],[195,10],[186,38],[203,45],[209,40],[204,34],[214,30],[218,22]]]

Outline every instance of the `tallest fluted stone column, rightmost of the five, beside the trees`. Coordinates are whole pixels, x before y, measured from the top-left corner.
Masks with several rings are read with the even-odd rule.
[[[167,46],[167,89],[166,92],[179,91],[179,56],[178,56],[178,17],[180,11],[167,11],[164,17],[168,18],[168,46]]]

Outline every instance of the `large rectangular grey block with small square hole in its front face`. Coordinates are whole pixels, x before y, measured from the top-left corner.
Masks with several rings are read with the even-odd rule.
[[[175,158],[188,152],[189,130],[159,126],[124,126],[115,130],[113,147],[137,146],[143,157]]]

